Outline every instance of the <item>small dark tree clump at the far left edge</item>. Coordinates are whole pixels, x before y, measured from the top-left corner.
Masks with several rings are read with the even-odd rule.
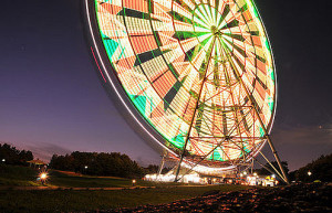
[[[6,164],[28,166],[27,161],[33,160],[31,151],[18,150],[8,143],[0,143],[0,161]]]

